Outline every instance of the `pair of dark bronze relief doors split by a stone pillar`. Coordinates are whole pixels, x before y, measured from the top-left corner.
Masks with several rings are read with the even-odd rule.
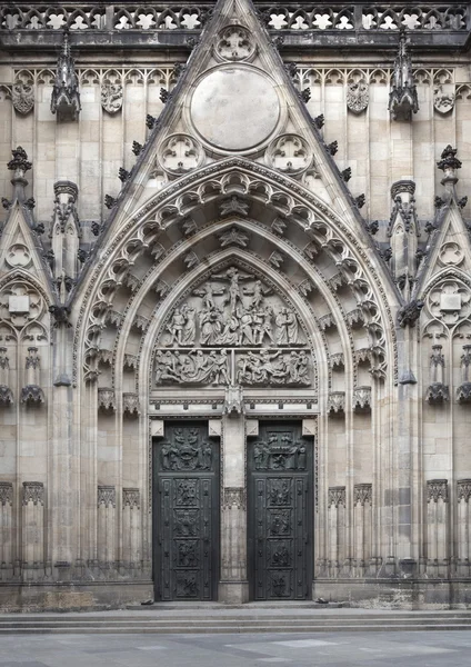
[[[310,597],[312,447],[301,422],[261,422],[249,441],[248,559],[254,600]],[[204,421],[166,425],[154,445],[158,600],[214,600],[220,573],[220,452]]]

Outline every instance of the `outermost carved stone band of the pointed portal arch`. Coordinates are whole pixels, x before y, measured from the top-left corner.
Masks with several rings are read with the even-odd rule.
[[[214,176],[211,178],[211,175]],[[191,189],[194,181],[197,181],[196,189]],[[315,245],[332,258],[339,267],[342,280],[353,290],[370,335],[372,372],[383,377],[387,368],[385,334],[375,292],[380,295],[382,309],[387,312],[388,328],[395,347],[393,321],[384,288],[369,261],[367,251],[360,247],[353,233],[338,216],[302,186],[294,185],[292,180],[285,181],[281,175],[268,171],[260,165],[249,163],[241,158],[230,158],[218,165],[211,165],[204,170],[192,172],[186,179],[179,179],[178,185],[169,185],[164,191],[142,207],[133,220],[120,227],[120,232],[98,262],[88,287],[89,293],[94,291],[94,283],[100,276],[86,330],[86,366],[90,367],[96,356],[100,331],[111,308],[116,289],[122,285],[127,271],[139,255],[157,242],[162,230],[173,221],[180,223],[194,207],[204,206],[221,196],[228,197],[231,192],[237,192],[238,198],[243,197],[248,206],[252,200],[261,201],[270,206],[278,216],[281,215],[283,219],[289,218],[291,225],[295,223],[303,230],[309,229]],[[111,261],[110,257],[113,257]],[[108,268],[103,276],[106,262]],[[368,278],[365,271],[369,273]],[[387,278],[383,277],[384,279]],[[76,345],[80,337],[84,310],[86,306],[82,307],[79,316]]]

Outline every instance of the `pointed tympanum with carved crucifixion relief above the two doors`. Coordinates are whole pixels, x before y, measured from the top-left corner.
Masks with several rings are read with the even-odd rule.
[[[213,272],[169,313],[154,385],[310,387],[312,356],[294,309],[253,273]]]

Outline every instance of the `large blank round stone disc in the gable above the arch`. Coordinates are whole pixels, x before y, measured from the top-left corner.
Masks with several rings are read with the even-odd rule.
[[[200,136],[217,148],[249,150],[265,141],[280,118],[273,83],[243,67],[221,68],[197,86],[190,104]]]

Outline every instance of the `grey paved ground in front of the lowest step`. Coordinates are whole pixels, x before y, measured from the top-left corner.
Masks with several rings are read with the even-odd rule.
[[[0,667],[470,667],[471,630],[0,638]]]

